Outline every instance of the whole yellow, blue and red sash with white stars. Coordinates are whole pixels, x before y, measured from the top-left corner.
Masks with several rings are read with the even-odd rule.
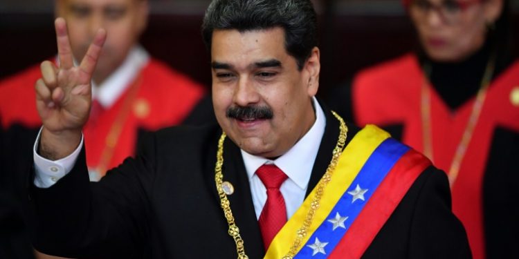
[[[360,258],[430,161],[367,125],[340,155],[294,258]],[[265,258],[282,258],[311,207],[314,189],[273,239]]]

